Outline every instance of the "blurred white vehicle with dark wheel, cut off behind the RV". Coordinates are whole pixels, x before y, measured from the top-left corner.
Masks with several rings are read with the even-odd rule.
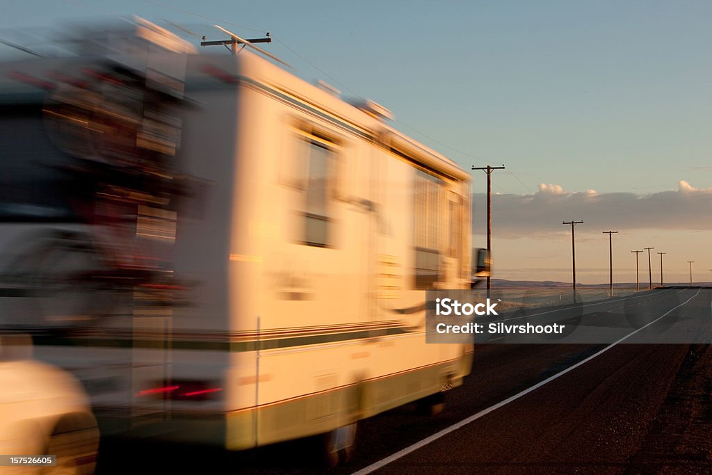
[[[26,336],[0,335],[0,454],[56,455],[56,466],[1,466],[3,474],[92,474],[99,431],[68,372],[31,359]]]

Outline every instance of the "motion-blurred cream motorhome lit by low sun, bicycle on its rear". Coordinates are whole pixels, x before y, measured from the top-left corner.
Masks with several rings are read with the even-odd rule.
[[[470,286],[468,173],[248,49],[85,33],[0,65],[0,319],[103,432],[337,459],[461,385],[471,345],[426,345],[424,315]]]

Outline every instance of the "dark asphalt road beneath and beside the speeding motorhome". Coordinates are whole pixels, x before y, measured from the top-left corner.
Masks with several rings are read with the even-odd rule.
[[[646,314],[637,328],[624,301],[585,308],[582,322],[708,335],[708,292],[671,292],[634,301]],[[476,345],[472,374],[442,414],[410,404],[362,421],[353,461],[333,472],[712,472],[712,347],[627,341]],[[160,473],[313,473],[311,442],[226,454],[103,441],[98,473],[126,473],[145,454],[142,467]]]

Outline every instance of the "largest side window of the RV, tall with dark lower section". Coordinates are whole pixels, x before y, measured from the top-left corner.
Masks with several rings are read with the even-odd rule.
[[[439,202],[443,182],[422,170],[415,177],[415,288],[433,288],[439,280],[441,247]]]

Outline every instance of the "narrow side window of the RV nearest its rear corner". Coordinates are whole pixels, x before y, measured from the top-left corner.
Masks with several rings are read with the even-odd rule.
[[[333,151],[323,142],[308,142],[305,207],[305,237],[308,246],[329,245],[328,189],[333,167]]]

